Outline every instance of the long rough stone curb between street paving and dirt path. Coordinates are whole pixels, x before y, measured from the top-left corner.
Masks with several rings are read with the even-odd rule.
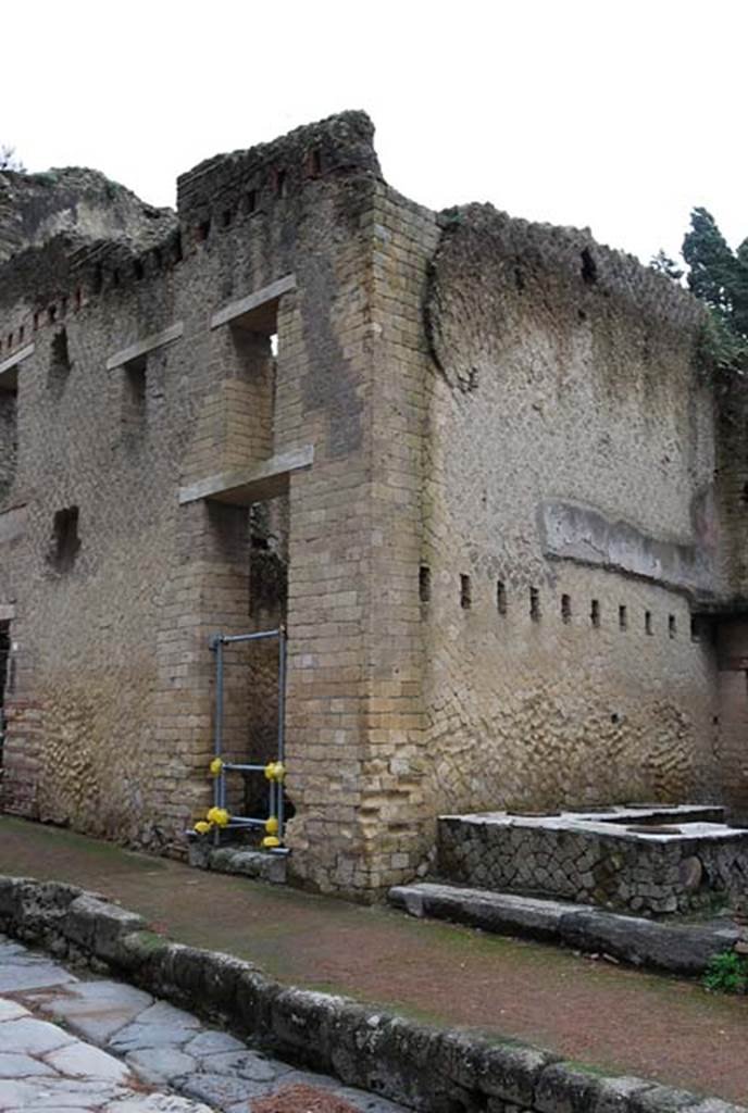
[[[748,1113],[643,1078],[600,1077],[514,1042],[289,988],[232,955],[169,943],[140,916],[70,885],[0,877],[0,930],[189,1005],[274,1055],[427,1113]]]

